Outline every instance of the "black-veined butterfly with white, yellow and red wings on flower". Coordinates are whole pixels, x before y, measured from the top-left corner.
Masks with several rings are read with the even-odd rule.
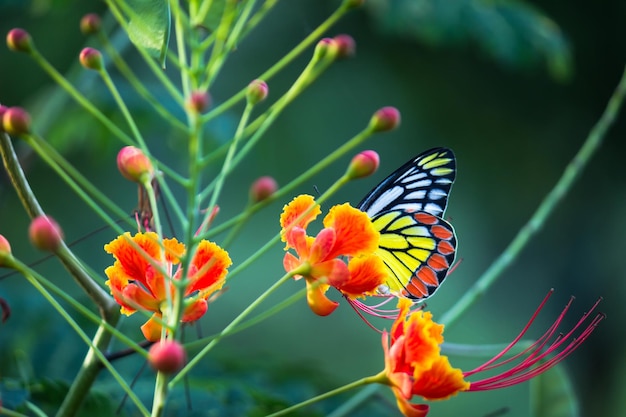
[[[439,288],[454,262],[456,235],[442,219],[456,177],[447,148],[429,149],[394,171],[359,203],[380,232],[376,254],[389,270],[381,294],[419,302]]]

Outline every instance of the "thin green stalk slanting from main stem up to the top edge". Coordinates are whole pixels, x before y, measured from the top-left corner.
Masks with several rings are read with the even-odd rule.
[[[332,15],[330,15],[324,22],[322,22],[306,38],[300,41],[300,43],[296,45],[296,47],[294,47],[291,51],[289,51],[287,55],[285,55],[276,64],[272,65],[268,70],[266,70],[256,78],[267,82],[270,78],[272,78],[288,64],[290,64],[293,60],[295,60],[302,52],[304,52],[306,48],[308,48],[314,42],[317,42],[322,37],[322,35],[326,31],[328,31],[328,29],[330,29],[340,18],[343,17],[343,15],[345,15],[350,10],[350,7],[347,6],[346,3],[347,2],[344,1],[342,5],[333,12]],[[239,101],[243,100],[246,97],[246,91],[247,88],[243,88],[241,91],[233,95],[224,103],[204,115],[203,122],[206,123],[216,118],[220,114],[224,113],[225,111],[236,105]]]

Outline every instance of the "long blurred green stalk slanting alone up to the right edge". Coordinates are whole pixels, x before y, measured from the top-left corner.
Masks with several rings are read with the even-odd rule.
[[[591,157],[602,144],[602,140],[605,138],[608,129],[615,122],[619,114],[625,94],[626,68],[622,73],[622,78],[617,88],[609,99],[604,113],[589,132],[583,146],[565,168],[561,178],[559,178],[555,186],[550,190],[548,195],[546,195],[537,210],[517,233],[511,243],[509,243],[504,252],[496,258],[474,285],[465,292],[463,297],[444,314],[441,319],[442,323],[445,323],[446,326],[450,326],[463,316],[465,311],[487,292],[491,285],[496,282],[496,280],[502,276],[502,273],[517,259],[530,239],[542,229],[548,217],[554,212],[558,204],[563,200],[563,197],[572,188],[574,182],[580,177],[583,169],[591,160]]]

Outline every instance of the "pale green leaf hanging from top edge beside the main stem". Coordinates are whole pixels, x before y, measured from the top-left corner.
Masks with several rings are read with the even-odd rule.
[[[170,37],[170,5],[167,0],[130,0],[128,36],[132,43],[158,57],[165,66]]]

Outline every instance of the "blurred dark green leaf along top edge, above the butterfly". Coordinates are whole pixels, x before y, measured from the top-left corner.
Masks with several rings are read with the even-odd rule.
[[[370,0],[379,27],[433,45],[474,44],[500,64],[543,67],[554,79],[572,75],[569,43],[556,23],[522,1]]]

